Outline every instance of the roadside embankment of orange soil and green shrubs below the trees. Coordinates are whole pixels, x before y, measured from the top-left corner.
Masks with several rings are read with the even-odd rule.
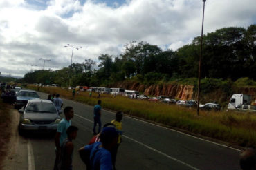
[[[133,89],[148,96],[166,95],[179,100],[196,99],[196,81],[190,83],[172,81],[147,85],[136,81],[122,81],[111,84],[109,87]],[[217,102],[221,105],[227,105],[232,94],[249,94],[253,101],[256,100],[256,86],[237,85],[237,81],[222,81],[212,78],[203,79],[201,83],[201,103]]]

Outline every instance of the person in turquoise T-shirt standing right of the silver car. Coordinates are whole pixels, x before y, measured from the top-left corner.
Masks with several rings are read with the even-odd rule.
[[[73,107],[67,106],[64,109],[65,118],[62,118],[60,121],[57,132],[55,136],[55,152],[56,152],[56,158],[55,158],[55,164],[54,164],[54,170],[59,170],[58,165],[60,164],[60,156],[61,156],[61,149],[60,146],[62,145],[62,142],[67,138],[66,130],[69,126],[71,126],[71,119],[74,116]]]

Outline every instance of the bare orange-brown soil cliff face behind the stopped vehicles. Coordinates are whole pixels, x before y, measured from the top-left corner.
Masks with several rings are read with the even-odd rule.
[[[178,85],[162,83],[160,85],[145,85],[134,81],[123,81],[111,85],[111,87],[119,87],[124,89],[137,90],[149,96],[171,96],[179,100],[196,99],[196,92],[193,85]],[[201,102],[217,102],[227,104],[232,94],[249,94],[252,96],[253,102],[256,100],[256,87],[230,87],[230,92],[224,92],[223,89],[212,89],[207,94],[201,94]]]

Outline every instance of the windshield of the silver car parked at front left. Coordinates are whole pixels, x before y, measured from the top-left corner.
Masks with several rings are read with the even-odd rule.
[[[26,107],[26,113],[57,113],[53,103],[29,103]]]

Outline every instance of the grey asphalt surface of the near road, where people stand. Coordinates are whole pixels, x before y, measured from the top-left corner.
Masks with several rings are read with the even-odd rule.
[[[47,94],[38,93],[41,98]],[[93,107],[63,99],[64,107],[72,106],[72,125],[79,128],[74,140],[73,169],[86,169],[77,149],[86,145],[93,129]],[[132,107],[132,106],[131,106]],[[63,115],[62,115],[63,116]],[[102,125],[115,118],[111,111],[102,110]],[[179,131],[153,125],[124,116],[122,144],[118,149],[117,169],[239,169],[239,150],[202,140]],[[53,169],[55,143],[53,136],[37,134],[21,137],[28,142],[28,170]],[[26,166],[25,166],[26,167]],[[26,169],[26,168],[25,168]]]

